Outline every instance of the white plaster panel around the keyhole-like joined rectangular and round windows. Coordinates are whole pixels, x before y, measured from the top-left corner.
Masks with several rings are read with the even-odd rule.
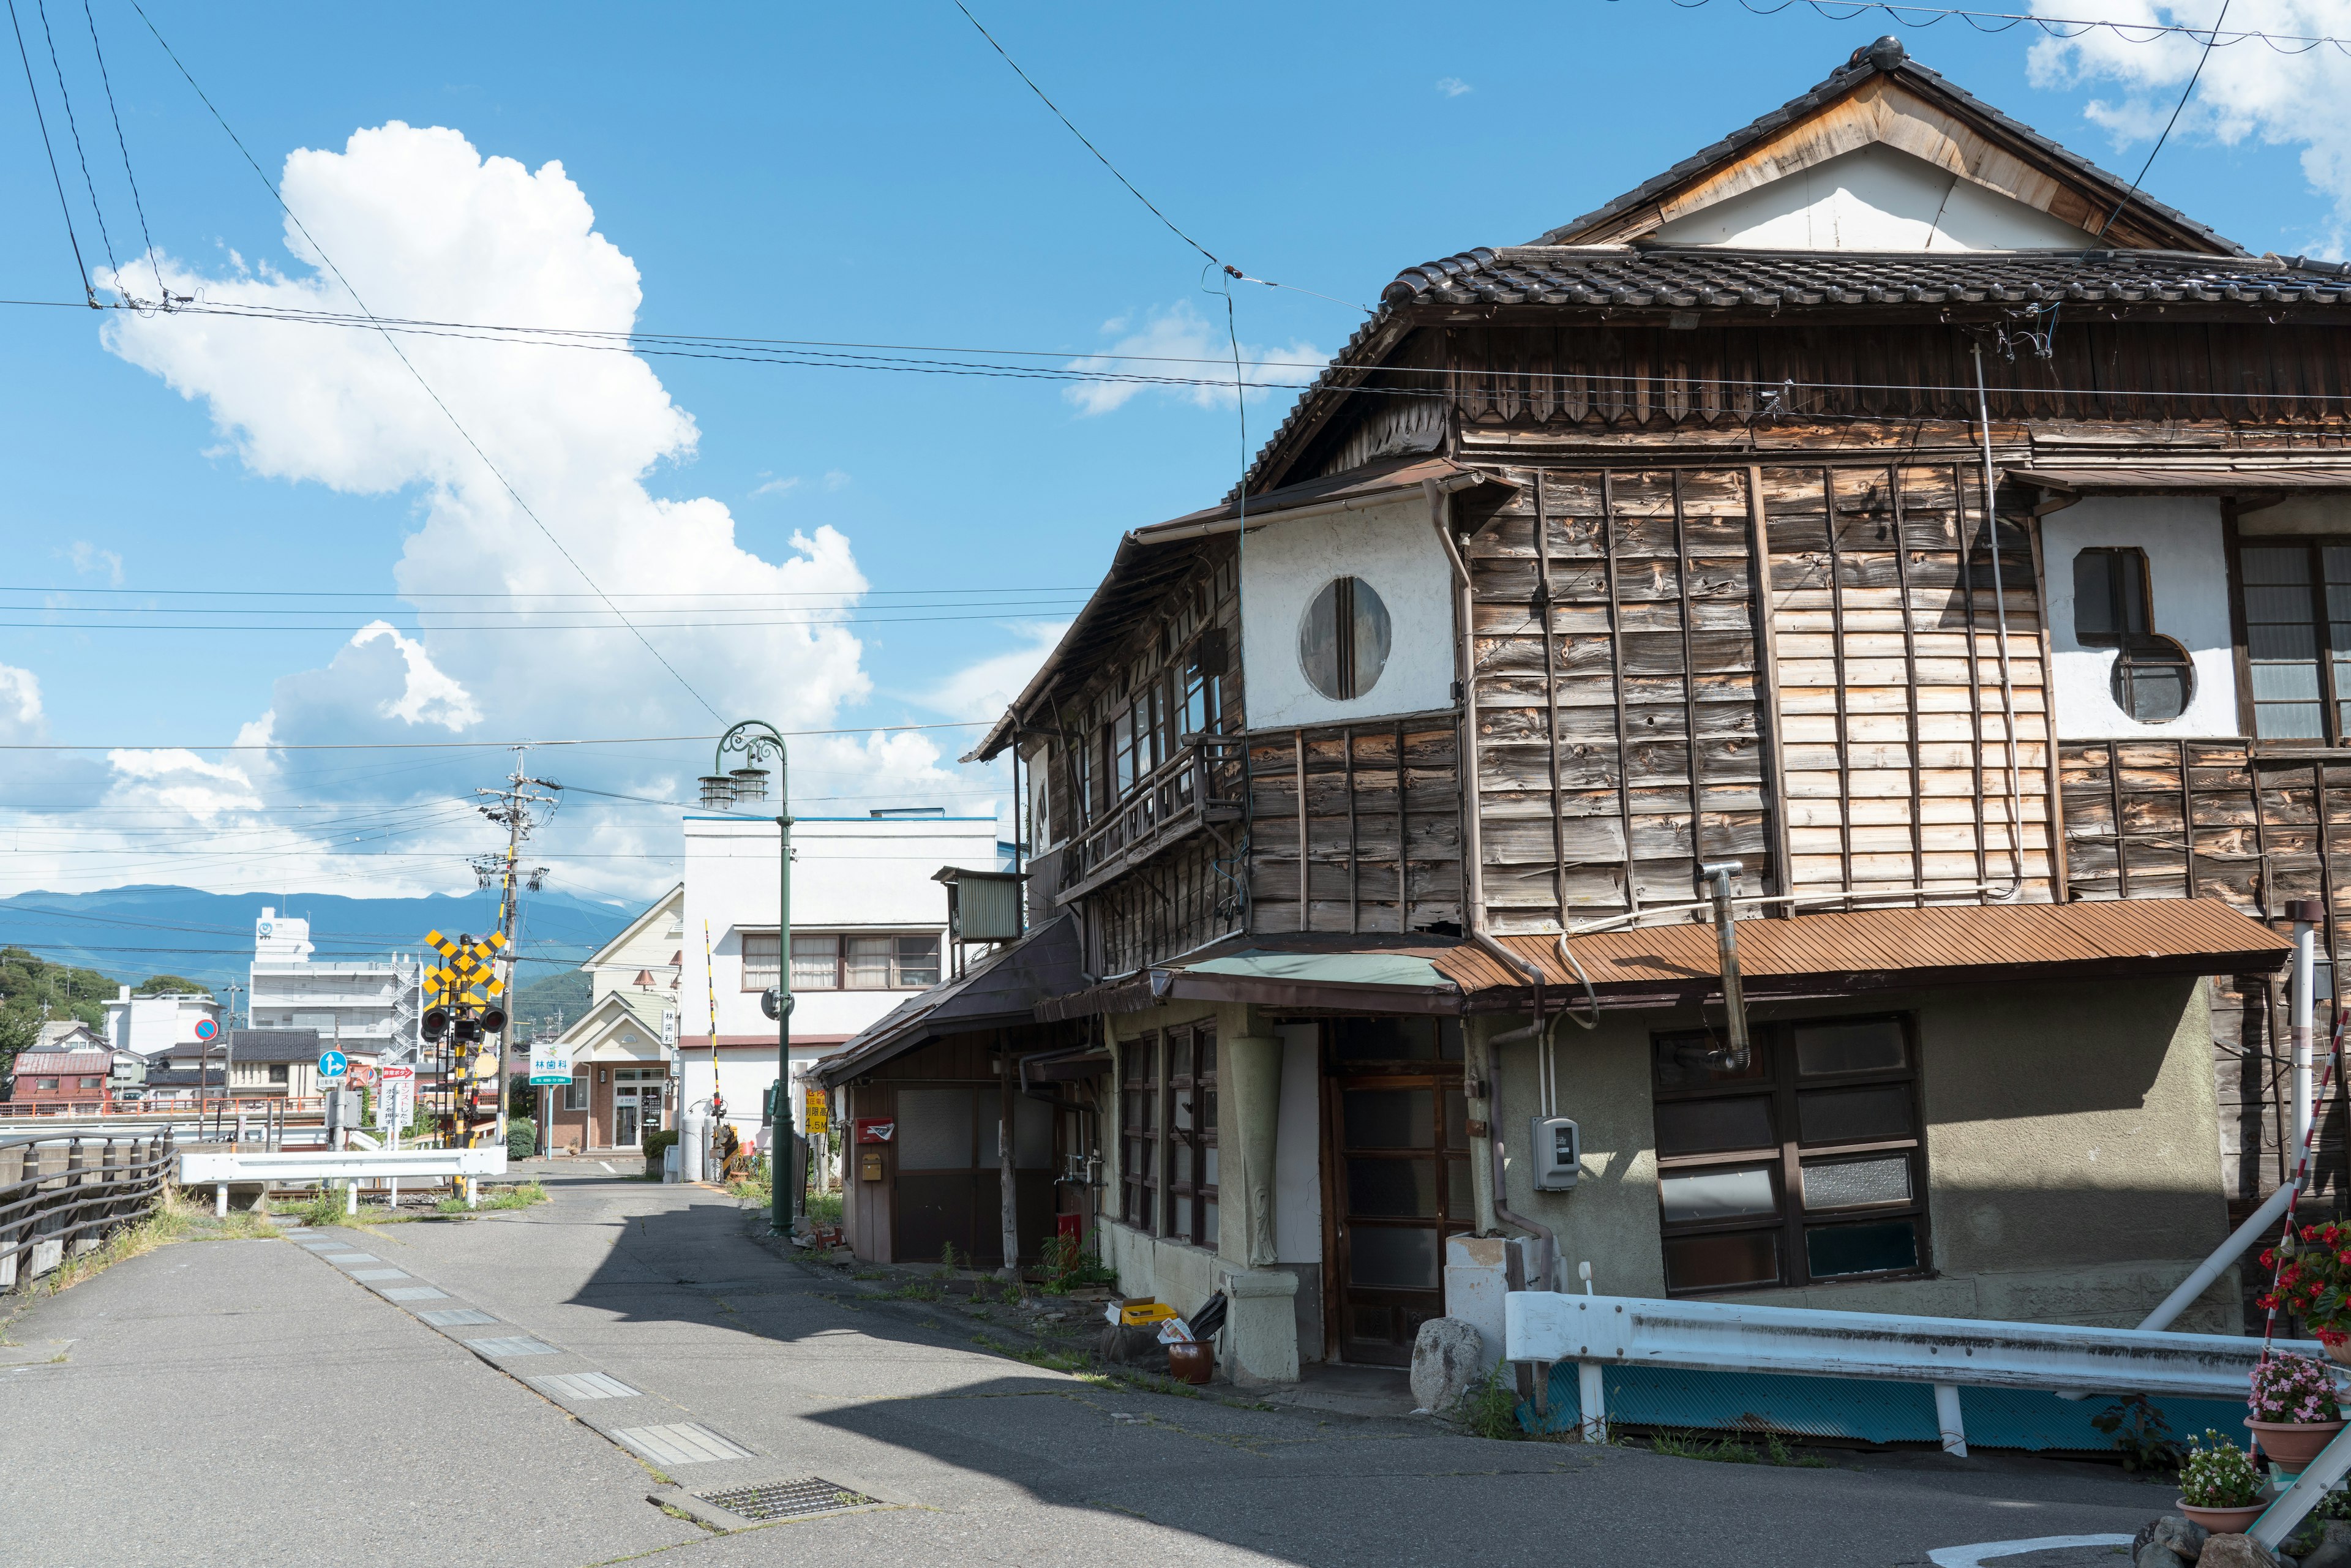
[[[2099,545],[2146,550],[2149,623],[2189,651],[2196,691],[2170,724],[2139,724],[2114,703],[2116,649],[2074,637],[2074,555]],[[2210,496],[2090,496],[2041,520],[2050,590],[2057,736],[2241,736],[2236,649],[2229,637],[2229,559]]]

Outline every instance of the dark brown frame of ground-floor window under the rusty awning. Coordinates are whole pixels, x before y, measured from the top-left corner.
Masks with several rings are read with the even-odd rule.
[[[1874,1067],[1862,1072],[1829,1072],[1817,1077],[1799,1077],[1796,1070],[1796,1030],[1815,1025],[1855,1025],[1855,1023],[1895,1023],[1902,1030],[1902,1067]],[[1657,1084],[1657,1046],[1667,1039],[1688,1037],[1697,1030],[1655,1030],[1648,1037],[1648,1081],[1650,1081],[1650,1135],[1657,1164],[1657,1232],[1660,1253],[1669,1251],[1672,1241],[1683,1237],[1721,1237],[1721,1234],[1754,1234],[1773,1232],[1777,1237],[1780,1251],[1780,1276],[1775,1281],[1742,1281],[1723,1286],[1674,1286],[1672,1274],[1667,1274],[1667,1295],[1726,1295],[1742,1291],[1806,1291],[1817,1286],[1846,1286],[1846,1284],[1881,1284],[1890,1279],[1933,1279],[1935,1276],[1935,1237],[1928,1218],[1928,1159],[1925,1159],[1925,1103],[1921,1093],[1923,1067],[1918,1060],[1918,1018],[1916,1013],[1831,1013],[1820,1018],[1787,1018],[1754,1025],[1754,1041],[1759,1051],[1766,1051],[1766,1077],[1763,1079],[1735,1079],[1726,1084],[1700,1081],[1695,1086],[1667,1088]],[[1909,1138],[1867,1138],[1867,1140],[1822,1140],[1806,1145],[1803,1128],[1796,1119],[1796,1093],[1822,1091],[1822,1088],[1864,1088],[1876,1084],[1904,1084],[1909,1088]],[[1742,1150],[1719,1150],[1702,1154],[1665,1154],[1662,1138],[1655,1138],[1655,1112],[1660,1105],[1681,1105],[1693,1100],[1742,1100],[1759,1098],[1768,1086],[1773,1107],[1773,1133],[1775,1145],[1754,1145]],[[1907,1154],[1909,1157],[1909,1199],[1902,1204],[1853,1204],[1843,1208],[1806,1211],[1803,1204],[1803,1168],[1806,1161],[1824,1164],[1855,1154]],[[1777,1199],[1777,1211],[1773,1215],[1737,1215],[1728,1220],[1669,1220],[1665,1215],[1665,1178],[1700,1171],[1740,1171],[1763,1166],[1770,1171],[1773,1197]],[[1806,1251],[1806,1232],[1822,1229],[1831,1225],[1846,1225],[1855,1220],[1911,1220],[1918,1234],[1918,1262],[1907,1269],[1878,1269],[1869,1274],[1827,1274],[1815,1279],[1810,1272],[1810,1253]]]

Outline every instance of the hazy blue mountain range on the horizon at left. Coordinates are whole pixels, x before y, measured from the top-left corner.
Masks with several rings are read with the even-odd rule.
[[[245,983],[261,910],[310,922],[315,961],[416,952],[426,931],[482,936],[498,924],[491,891],[451,898],[348,898],[343,893],[205,893],[186,886],[120,886],[94,893],[0,898],[0,945],[82,964],[136,985],[183,976],[212,987]],[[522,898],[517,990],[557,976],[611,940],[639,905],[543,891]]]

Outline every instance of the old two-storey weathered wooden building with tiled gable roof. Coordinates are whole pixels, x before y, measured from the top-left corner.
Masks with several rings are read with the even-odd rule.
[[[976,752],[1126,1284],[1225,1291],[1241,1378],[1401,1359],[1476,1234],[2137,1321],[2280,1180],[2285,903],[2351,910],[2346,409],[2344,268],[1895,40],[1401,273]]]

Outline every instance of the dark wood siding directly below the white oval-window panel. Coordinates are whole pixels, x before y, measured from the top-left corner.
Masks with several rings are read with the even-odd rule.
[[[1427,931],[1462,917],[1453,715],[1248,738],[1251,931]]]

